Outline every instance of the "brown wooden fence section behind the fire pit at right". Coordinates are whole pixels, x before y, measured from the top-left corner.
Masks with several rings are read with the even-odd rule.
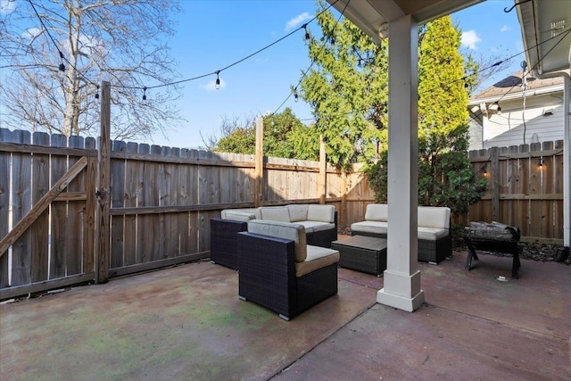
[[[468,219],[498,221],[527,239],[563,239],[563,141],[471,151],[469,160],[488,181]]]

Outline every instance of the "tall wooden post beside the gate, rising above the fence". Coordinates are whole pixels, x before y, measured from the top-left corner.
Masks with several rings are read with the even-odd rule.
[[[110,145],[111,145],[111,85],[101,83],[101,140],[97,166],[97,208],[95,213],[95,283],[109,280],[109,190],[110,190]]]

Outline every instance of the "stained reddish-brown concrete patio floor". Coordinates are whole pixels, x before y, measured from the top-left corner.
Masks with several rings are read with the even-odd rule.
[[[383,278],[286,322],[237,297],[236,271],[189,263],[0,305],[2,380],[571,379],[571,268],[466,253],[419,263],[426,303],[376,303]],[[498,280],[507,277],[507,282]]]

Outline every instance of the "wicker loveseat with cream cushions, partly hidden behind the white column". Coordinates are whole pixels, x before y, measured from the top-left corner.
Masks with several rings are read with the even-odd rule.
[[[452,255],[450,208],[418,206],[418,261],[439,263]],[[365,220],[351,225],[352,236],[386,238],[388,205],[369,203]]]

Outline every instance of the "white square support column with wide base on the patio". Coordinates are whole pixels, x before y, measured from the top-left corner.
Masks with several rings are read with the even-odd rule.
[[[393,37],[393,38],[391,38]],[[415,311],[425,301],[418,271],[418,29],[410,15],[389,24],[387,267],[377,302]]]

